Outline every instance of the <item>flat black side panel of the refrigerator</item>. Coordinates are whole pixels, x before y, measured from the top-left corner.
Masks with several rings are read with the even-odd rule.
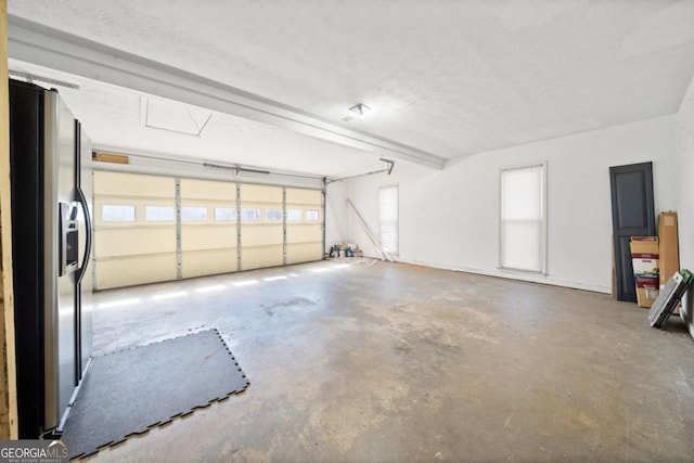
[[[43,429],[43,90],[10,80],[18,437]],[[18,256],[18,257],[17,257]]]

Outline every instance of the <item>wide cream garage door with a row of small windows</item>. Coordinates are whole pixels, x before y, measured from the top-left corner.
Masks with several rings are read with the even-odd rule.
[[[320,190],[94,171],[97,288],[323,258]]]

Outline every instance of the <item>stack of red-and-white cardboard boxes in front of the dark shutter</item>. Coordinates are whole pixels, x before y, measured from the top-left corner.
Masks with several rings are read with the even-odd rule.
[[[637,304],[639,307],[651,307],[660,288],[658,237],[631,236],[630,245]]]

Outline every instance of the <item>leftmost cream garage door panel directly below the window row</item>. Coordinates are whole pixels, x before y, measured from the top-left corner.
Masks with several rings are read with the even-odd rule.
[[[94,240],[97,258],[176,253],[176,230],[167,228],[104,228]]]

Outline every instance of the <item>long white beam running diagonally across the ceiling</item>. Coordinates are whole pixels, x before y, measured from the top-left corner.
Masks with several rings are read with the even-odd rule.
[[[216,80],[8,15],[12,59],[281,127],[435,169],[447,159],[393,140],[349,130],[296,107]]]

